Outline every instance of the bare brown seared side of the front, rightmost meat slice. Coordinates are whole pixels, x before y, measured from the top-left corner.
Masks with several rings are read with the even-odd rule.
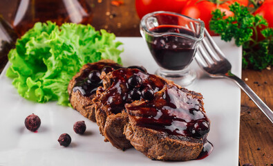
[[[156,160],[192,160],[203,148],[203,140],[137,127],[133,121],[124,127],[124,134],[131,145],[145,156]]]

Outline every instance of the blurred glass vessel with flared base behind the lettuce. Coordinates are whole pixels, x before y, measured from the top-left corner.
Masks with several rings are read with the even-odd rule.
[[[85,0],[19,0],[12,26],[23,35],[38,21],[91,24],[91,7]]]

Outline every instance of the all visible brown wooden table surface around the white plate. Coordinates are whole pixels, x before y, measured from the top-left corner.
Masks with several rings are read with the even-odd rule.
[[[92,25],[104,28],[118,37],[140,37],[140,19],[133,0],[124,0],[121,6],[111,5],[111,0],[86,0],[92,6]],[[1,0],[0,15],[11,21],[17,0]],[[1,63],[0,63],[1,64]],[[3,65],[0,66],[0,72]],[[273,70],[273,68],[272,68]],[[243,70],[242,78],[258,96],[273,109],[273,72]],[[254,83],[255,82],[255,83]],[[257,84],[258,82],[258,84]],[[273,165],[273,125],[242,91],[239,165]]]

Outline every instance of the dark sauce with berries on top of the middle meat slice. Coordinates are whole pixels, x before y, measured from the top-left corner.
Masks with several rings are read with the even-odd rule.
[[[156,75],[144,73],[135,68],[120,68],[112,72],[111,86],[102,92],[100,98],[102,104],[107,107],[107,113],[120,113],[125,110],[124,104],[143,98],[142,90],[145,88],[151,91],[160,91],[164,80]]]

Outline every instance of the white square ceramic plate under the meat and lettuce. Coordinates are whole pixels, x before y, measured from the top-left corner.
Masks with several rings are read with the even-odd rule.
[[[241,48],[216,37],[216,43],[232,63],[232,72],[241,77]],[[124,66],[142,65],[150,73],[156,71],[146,43],[140,37],[117,37],[124,43]],[[97,124],[77,111],[56,102],[39,104],[21,98],[12,80],[6,77],[6,68],[0,76],[0,165],[238,165],[238,136],[241,91],[232,81],[213,79],[200,71],[196,62],[191,68],[198,71],[199,79],[187,88],[203,94],[205,110],[211,120],[208,140],[214,151],[203,160],[162,162],[150,160],[135,149],[121,151],[104,142]],[[41,118],[41,127],[32,133],[24,127],[31,113]],[[86,134],[77,135],[73,124],[85,120]],[[60,147],[57,139],[69,133],[72,143]]]

